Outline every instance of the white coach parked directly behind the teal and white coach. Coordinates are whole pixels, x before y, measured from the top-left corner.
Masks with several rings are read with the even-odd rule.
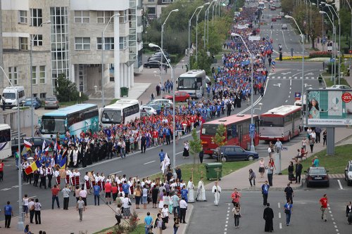
[[[136,117],[141,117],[138,100],[117,100],[116,103],[112,105],[106,105],[101,111],[101,125],[111,126],[111,124],[125,124]]]

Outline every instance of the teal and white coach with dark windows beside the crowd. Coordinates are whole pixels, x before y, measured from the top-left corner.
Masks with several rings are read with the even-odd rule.
[[[46,113],[39,119],[39,128],[42,137],[51,138],[59,134],[65,137],[66,131],[70,135],[80,136],[81,131],[99,130],[99,111],[95,104],[76,104]]]

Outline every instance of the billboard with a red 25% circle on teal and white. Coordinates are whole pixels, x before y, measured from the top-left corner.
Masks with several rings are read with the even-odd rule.
[[[308,126],[352,126],[352,90],[308,89]]]

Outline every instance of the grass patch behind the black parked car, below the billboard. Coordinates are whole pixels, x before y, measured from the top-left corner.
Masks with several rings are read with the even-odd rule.
[[[309,146],[308,146],[309,148]],[[311,166],[314,156],[318,156],[319,165],[321,167],[325,167],[329,174],[341,174],[344,173],[346,163],[348,160],[352,160],[352,144],[350,145],[340,145],[335,147],[335,155],[329,156],[326,155],[327,150],[322,150],[320,152],[316,152],[313,155],[310,155],[307,160],[303,160],[302,166],[303,171],[305,171],[308,167]],[[287,169],[282,171],[282,174],[289,174]]]

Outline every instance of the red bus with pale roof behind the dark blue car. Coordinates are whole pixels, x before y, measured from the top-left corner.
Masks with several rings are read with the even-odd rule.
[[[256,124],[256,132],[253,138],[254,145],[258,145],[258,115],[253,115],[253,123]],[[249,124],[251,124],[251,115],[232,115],[215,119],[201,125],[201,143],[204,153],[213,155],[218,145],[213,143],[211,138],[215,136],[216,130],[220,124],[226,127],[225,141],[226,145],[239,145],[241,148],[248,149],[251,145],[251,137],[249,136]]]

